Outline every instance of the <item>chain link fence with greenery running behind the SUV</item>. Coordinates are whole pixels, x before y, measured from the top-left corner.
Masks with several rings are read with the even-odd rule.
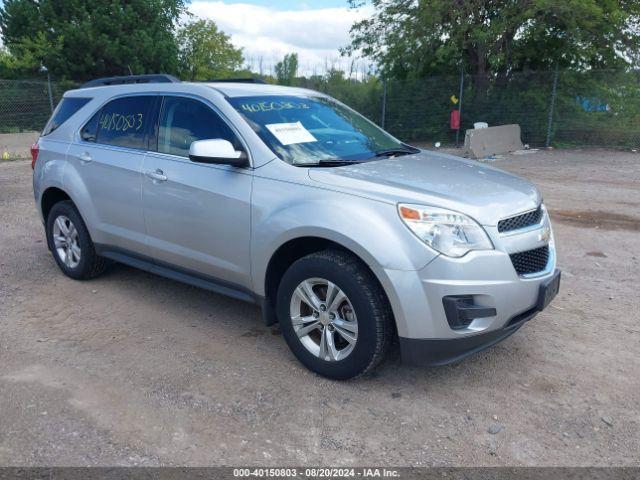
[[[550,71],[411,80],[347,79],[331,72],[298,86],[332,95],[408,142],[452,145],[451,111],[460,108],[459,141],[475,122],[518,123],[534,146],[640,148],[640,72]],[[73,85],[0,80],[0,133],[40,131]],[[455,96],[457,103],[452,101]]]

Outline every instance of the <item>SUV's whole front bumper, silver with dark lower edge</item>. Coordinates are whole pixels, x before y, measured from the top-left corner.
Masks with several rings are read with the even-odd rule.
[[[546,268],[534,275],[518,275],[502,248],[457,259],[441,255],[419,271],[385,270],[383,287],[403,360],[419,365],[454,362],[518,330],[546,306],[548,302],[540,300],[541,288],[559,276],[553,241],[549,246]],[[462,307],[472,306],[471,311],[482,312],[481,318],[453,326],[443,304],[450,296],[464,298]],[[462,313],[469,317],[468,311]]]

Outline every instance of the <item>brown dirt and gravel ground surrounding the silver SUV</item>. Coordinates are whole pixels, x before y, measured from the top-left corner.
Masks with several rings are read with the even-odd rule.
[[[0,465],[640,464],[640,156],[493,165],[544,192],[555,303],[458,365],[396,352],[337,383],[255,306],[124,266],[64,277],[29,163],[0,163]]]

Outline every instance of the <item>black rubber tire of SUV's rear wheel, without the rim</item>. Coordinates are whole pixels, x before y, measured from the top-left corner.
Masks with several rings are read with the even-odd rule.
[[[53,226],[56,219],[61,215],[67,217],[78,232],[78,244],[81,254],[78,265],[74,267],[65,264],[54,245]],[[47,217],[47,242],[60,270],[62,270],[66,276],[75,280],[88,280],[97,277],[104,272],[107,266],[106,259],[96,254],[87,226],[84,224],[78,209],[71,201],[58,202],[51,208],[49,216]]]

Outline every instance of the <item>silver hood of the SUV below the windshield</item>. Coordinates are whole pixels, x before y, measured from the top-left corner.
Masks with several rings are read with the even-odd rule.
[[[476,161],[421,151],[332,168],[310,168],[315,182],[389,203],[416,203],[465,213],[485,226],[536,208],[529,181]]]

